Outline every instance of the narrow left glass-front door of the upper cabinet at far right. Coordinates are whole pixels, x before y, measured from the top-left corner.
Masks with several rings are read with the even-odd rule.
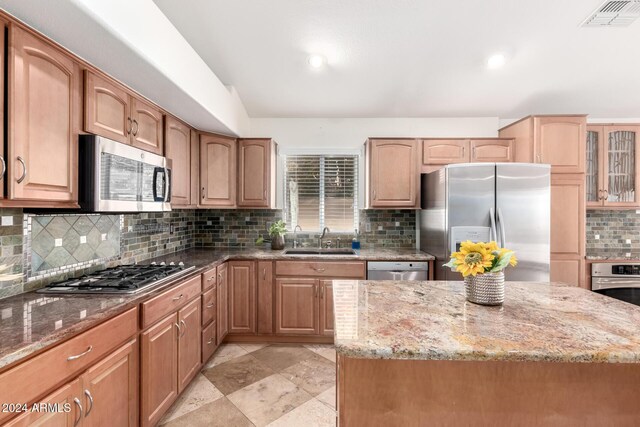
[[[598,207],[604,203],[603,161],[604,127],[587,126],[586,140],[586,194],[587,207]]]

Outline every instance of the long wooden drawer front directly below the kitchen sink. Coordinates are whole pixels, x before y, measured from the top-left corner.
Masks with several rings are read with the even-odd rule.
[[[277,261],[276,276],[365,278],[364,262]]]

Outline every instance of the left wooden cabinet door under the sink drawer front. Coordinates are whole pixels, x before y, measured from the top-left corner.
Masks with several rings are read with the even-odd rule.
[[[276,279],[276,334],[317,335],[317,279]]]

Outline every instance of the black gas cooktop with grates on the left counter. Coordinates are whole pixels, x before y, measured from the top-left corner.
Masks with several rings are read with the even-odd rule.
[[[48,294],[135,294],[184,276],[195,267],[179,264],[122,265],[78,278],[51,283],[39,290]]]

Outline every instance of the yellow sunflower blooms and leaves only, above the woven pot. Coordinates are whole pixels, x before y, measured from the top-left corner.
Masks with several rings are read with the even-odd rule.
[[[484,273],[498,273],[507,266],[518,263],[515,253],[507,248],[499,248],[496,242],[462,242],[460,251],[451,254],[451,260],[444,264],[462,273],[463,277]]]

